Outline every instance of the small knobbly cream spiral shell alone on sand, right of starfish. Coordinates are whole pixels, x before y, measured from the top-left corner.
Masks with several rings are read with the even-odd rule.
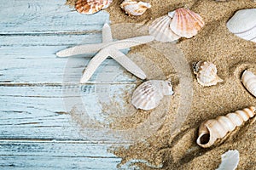
[[[202,86],[216,85],[223,80],[217,76],[217,68],[211,62],[199,61],[193,65],[194,73]]]

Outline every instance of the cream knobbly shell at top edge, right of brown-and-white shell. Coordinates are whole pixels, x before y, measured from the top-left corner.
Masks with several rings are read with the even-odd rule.
[[[148,8],[151,8],[150,3],[143,3],[134,0],[125,0],[120,4],[120,7],[125,10],[126,14],[133,16],[140,16],[146,12]]]

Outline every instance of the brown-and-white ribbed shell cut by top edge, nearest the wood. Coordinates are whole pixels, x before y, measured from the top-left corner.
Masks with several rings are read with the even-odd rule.
[[[95,14],[103,8],[108,8],[112,0],[78,0],[75,8],[81,14]]]

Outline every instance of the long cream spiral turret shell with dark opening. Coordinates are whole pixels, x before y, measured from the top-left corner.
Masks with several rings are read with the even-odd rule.
[[[196,143],[203,148],[210,147],[217,139],[224,138],[228,132],[241,126],[242,122],[246,122],[249,118],[255,116],[255,111],[256,108],[251,106],[242,111],[235,111],[235,113],[202,122]]]

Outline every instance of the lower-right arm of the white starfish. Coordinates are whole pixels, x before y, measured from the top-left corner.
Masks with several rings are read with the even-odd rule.
[[[136,77],[141,79],[146,78],[146,74],[143,70],[137,66],[131,59],[129,59],[125,54],[119,52],[117,48],[109,48],[110,56],[115,59],[120,65],[122,65],[127,71],[130,71]]]

